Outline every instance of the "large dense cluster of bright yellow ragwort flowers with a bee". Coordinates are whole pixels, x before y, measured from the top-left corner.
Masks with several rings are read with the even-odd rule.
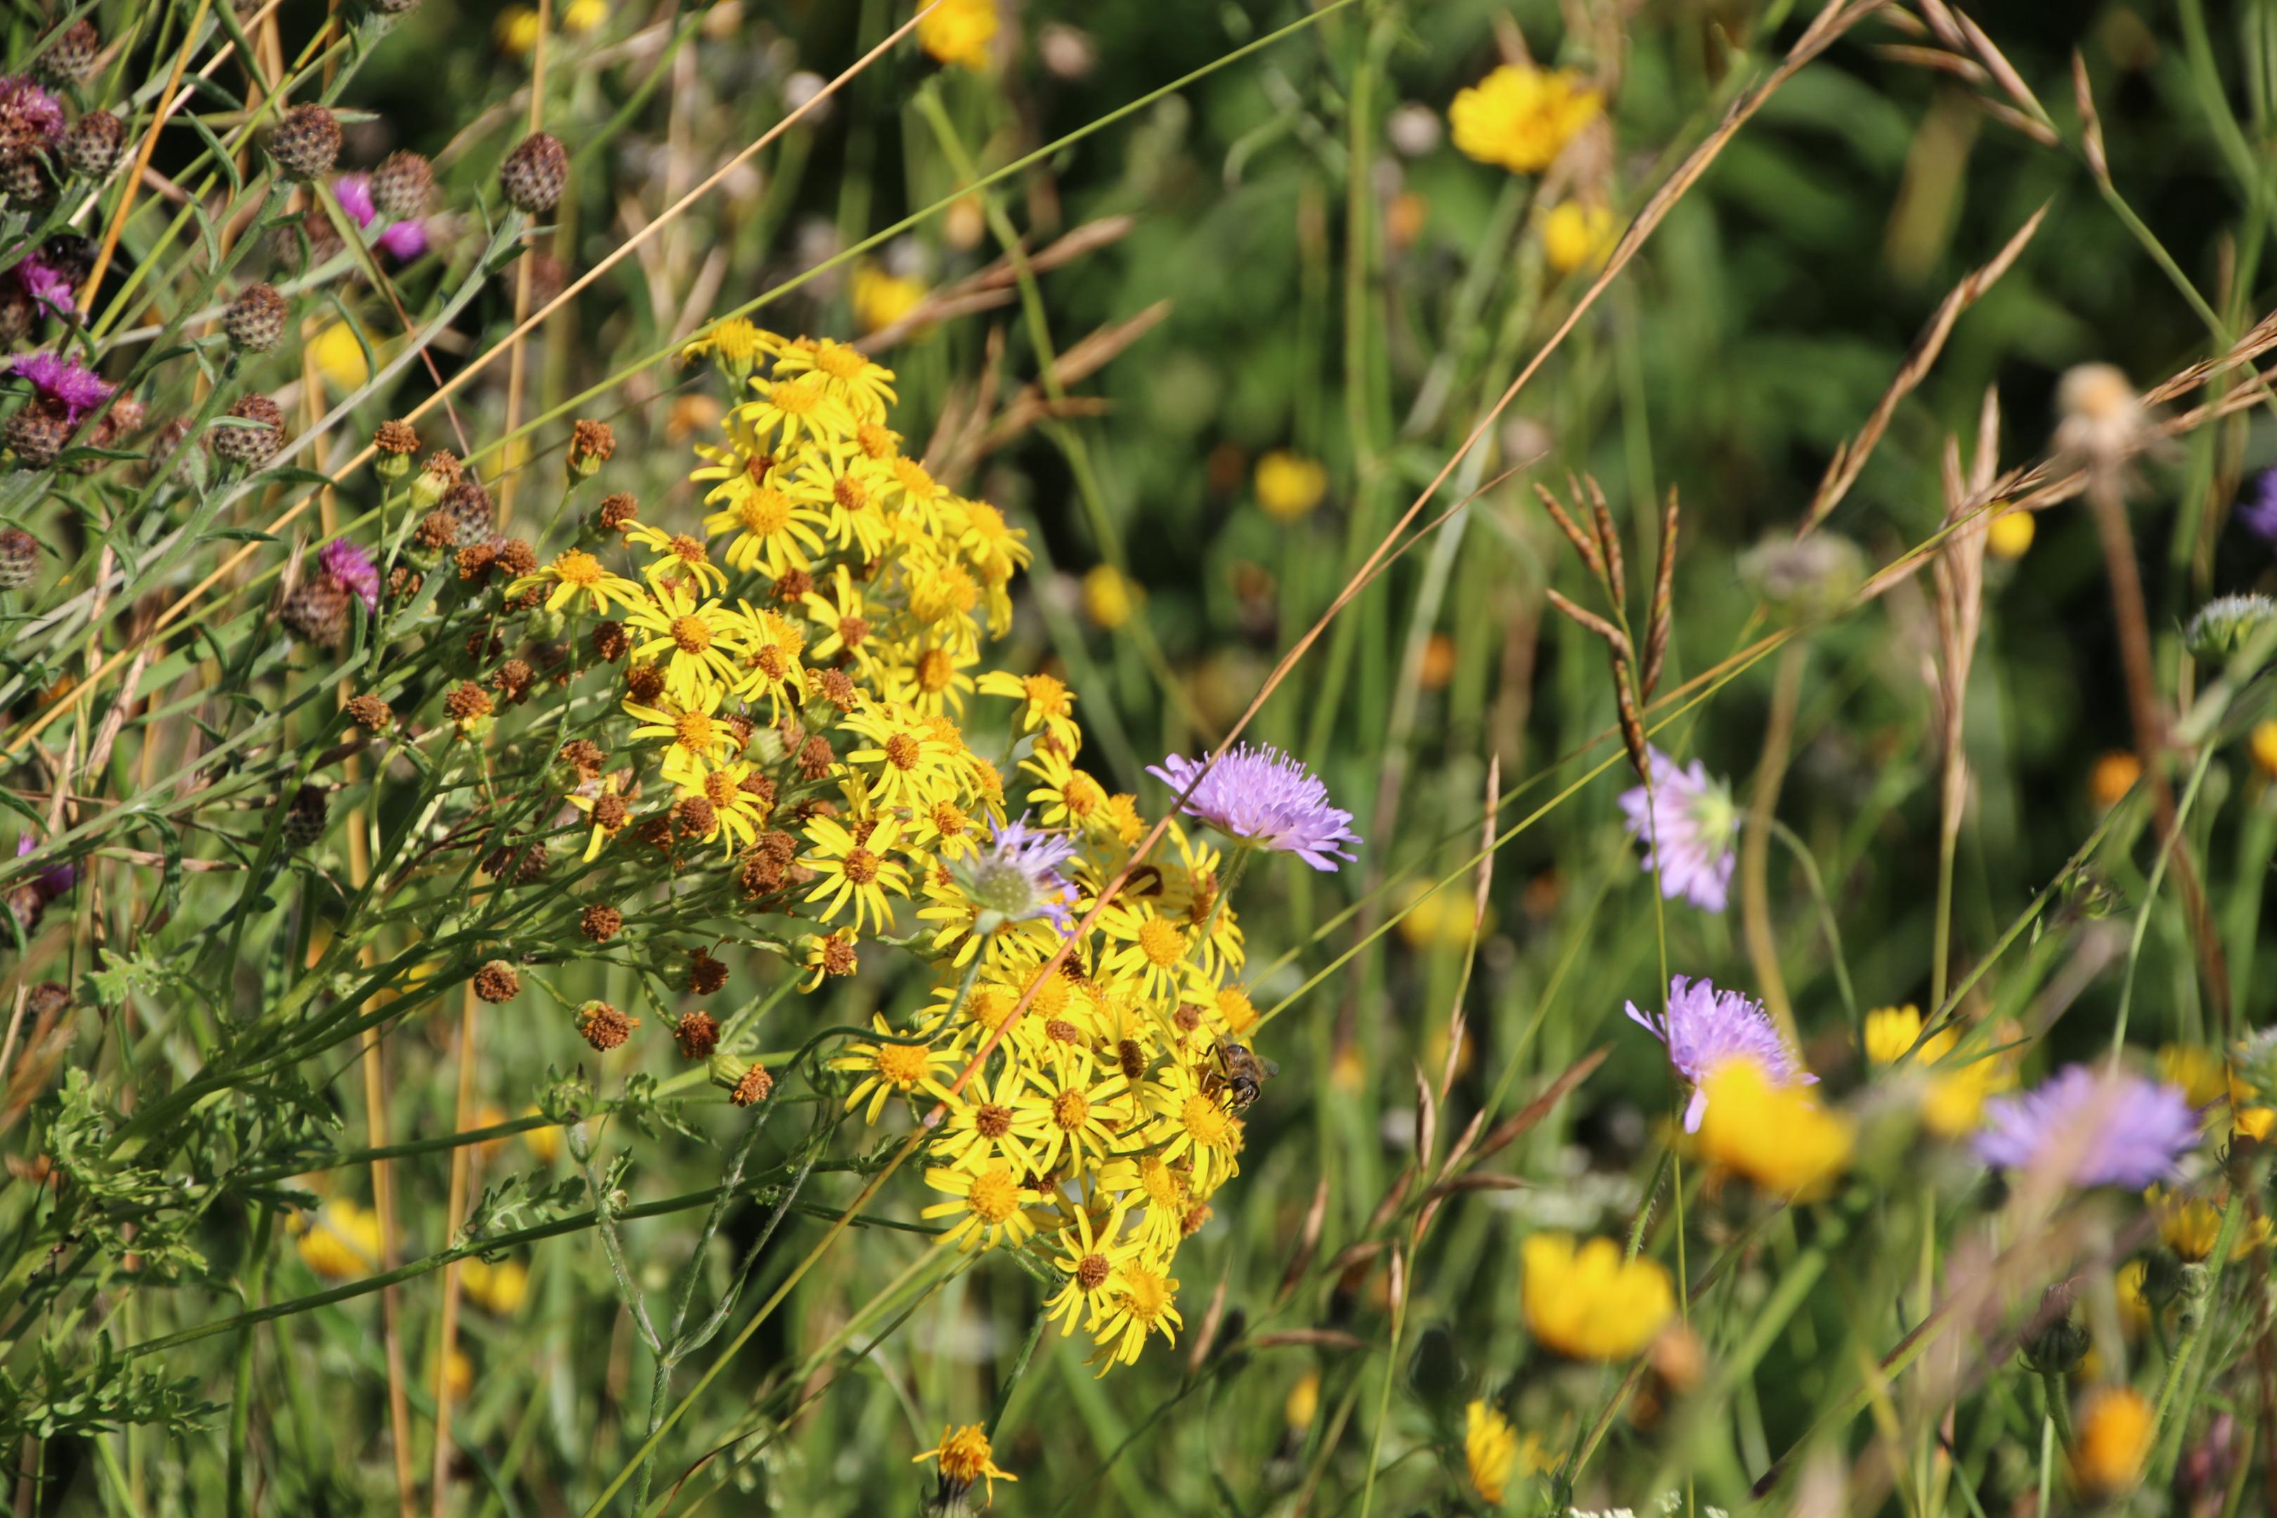
[[[747,894],[811,929],[808,990],[865,938],[924,954],[938,983],[913,1026],[877,1015],[831,1061],[845,1106],[945,1104],[924,1177],[943,1243],[1052,1259],[1052,1315],[1102,1370],[1134,1361],[1182,1327],[1175,1256],[1239,1170],[1259,1070],[1223,858],[1173,824],[1045,974],[1148,819],[1079,765],[1061,680],[979,669],[1025,537],[902,453],[895,376],[856,348],[726,321],[690,355],[747,391],[697,448],[704,537],[619,523],[633,574],[572,548],[510,587],[619,619],[624,712],[674,794],[635,819],[631,776],[587,778],[590,856],[628,826],[717,842]],[[1002,733],[988,756],[968,710]]]

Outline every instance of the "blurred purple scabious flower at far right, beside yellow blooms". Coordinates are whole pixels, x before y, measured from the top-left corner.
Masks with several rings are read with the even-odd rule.
[[[2072,1186],[2143,1190],[2170,1181],[2197,1147],[2197,1111],[2179,1086],[2065,1065],[2033,1090],[1986,1102],[1976,1156],[2001,1170],[2052,1170]]]

